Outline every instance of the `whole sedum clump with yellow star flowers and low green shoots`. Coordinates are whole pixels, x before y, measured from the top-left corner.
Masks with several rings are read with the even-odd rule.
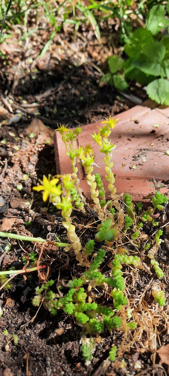
[[[94,173],[94,167],[97,164],[95,164],[95,156],[91,147],[88,145],[84,148],[82,146],[79,146],[78,149],[73,148],[73,141],[80,133],[80,128],[76,132],[65,126],[59,128],[66,146],[66,155],[71,159],[72,174],[53,178],[50,175],[44,176],[42,180],[39,180],[40,184],[34,187],[35,191],[42,191],[44,202],[49,199],[56,209],[61,211],[62,224],[69,238],[68,243],[0,232],[2,237],[27,240],[31,243],[35,242],[35,244],[45,243],[46,249],[51,244],[57,247],[57,254],[60,253],[60,247],[64,248],[62,254],[68,252],[67,254],[73,262],[71,277],[63,280],[61,276],[56,286],[54,280],[45,281],[41,287],[36,288],[32,303],[35,307],[43,305],[53,316],[62,311],[62,314],[69,315],[77,323],[82,333],[81,350],[88,364],[92,359],[98,335],[101,336],[106,331],[110,333],[113,331],[116,335],[116,330],[125,331],[130,335],[130,330],[136,329],[137,320],[134,321],[134,319],[137,312],[134,312],[132,317],[131,312],[134,308],[130,309],[129,285],[127,284],[127,288],[125,288],[124,271],[127,265],[132,265],[132,268],[127,268],[127,274],[130,275],[131,269],[133,272],[134,268],[136,269],[135,273],[138,274],[140,271],[143,273],[149,271],[145,262],[147,260],[149,262],[150,259],[156,273],[156,275],[154,273],[154,278],[162,278],[164,275],[157,261],[157,251],[164,230],[158,228],[155,233],[152,233],[149,243],[147,243],[148,239],[144,231],[147,228],[152,230],[152,226],[159,226],[161,218],[159,223],[155,218],[160,217],[160,213],[163,213],[168,199],[156,191],[152,196],[151,206],[145,211],[142,203],[134,205],[130,195],[125,194],[124,202],[120,207],[120,202],[115,194],[115,177],[111,161],[115,145],[111,144],[109,139],[116,123],[117,121],[111,117],[106,118],[103,127],[99,127],[98,133],[92,135],[100,147],[100,152],[104,153],[105,178],[109,182],[111,200],[107,200],[105,197],[100,175]],[[90,209],[80,188],[80,180],[77,176],[78,162],[81,162],[86,172],[93,201],[91,205],[93,218],[84,226],[83,232],[81,231],[83,224],[80,223],[77,232],[73,222],[74,218],[72,218],[73,206],[77,208],[77,215],[81,211],[80,218],[83,214],[87,217]],[[85,243],[83,234],[86,231],[88,231],[89,240]],[[102,247],[99,248],[101,242],[103,242]],[[130,255],[130,249],[122,247],[124,244],[131,245],[132,253],[133,250],[135,252],[134,255]],[[145,255],[146,250],[148,250],[147,256]],[[2,284],[6,278],[5,274],[13,275],[35,270],[39,273],[39,269],[45,267],[45,265],[38,265],[34,251],[29,252],[29,258],[23,260],[24,263],[27,261],[29,261],[30,267],[26,270],[0,271]],[[32,262],[35,264],[33,268],[31,267]],[[107,269],[107,265],[109,269]],[[134,273],[132,278],[134,278]],[[6,286],[8,286],[7,283],[8,279],[5,280]],[[157,288],[151,293],[158,305],[163,306],[164,293]],[[104,304],[105,300],[106,304]],[[128,319],[132,320],[128,321]],[[109,356],[110,360],[115,359],[116,349],[114,347],[110,350]]]

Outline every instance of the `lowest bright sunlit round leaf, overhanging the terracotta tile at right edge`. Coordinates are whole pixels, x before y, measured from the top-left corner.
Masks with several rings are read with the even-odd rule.
[[[155,100],[157,103],[161,103],[162,105],[169,106],[169,81],[160,78],[158,80],[154,80],[147,86],[147,94],[152,99]]]

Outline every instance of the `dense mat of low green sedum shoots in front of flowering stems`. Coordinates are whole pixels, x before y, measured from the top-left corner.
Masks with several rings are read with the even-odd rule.
[[[78,326],[81,327],[81,331],[85,335],[91,335],[90,339],[82,341],[81,351],[83,353],[86,362],[91,361],[92,353],[94,350],[94,335],[103,333],[108,330],[112,332],[115,328],[120,328],[123,324],[122,318],[115,314],[115,310],[107,308],[105,305],[101,305],[96,301],[92,301],[88,289],[82,287],[90,285],[92,281],[95,281],[95,285],[102,285],[107,283],[112,286],[109,278],[106,278],[104,274],[98,271],[98,268],[102,264],[105,256],[105,251],[100,249],[91,262],[87,271],[81,275],[79,279],[75,278],[68,282],[67,293],[55,294],[50,290],[54,284],[53,280],[48,281],[46,284],[42,284],[41,287],[36,288],[36,295],[32,300],[34,306],[39,306],[41,302],[45,309],[47,309],[52,315],[56,315],[57,312],[62,309],[66,314],[71,315],[76,320]],[[113,264],[114,266],[114,264]],[[112,269],[112,274],[115,279],[117,275]],[[117,308],[120,310],[120,305],[127,303],[126,298],[123,296],[122,291],[114,289],[112,291],[112,297],[115,301]]]

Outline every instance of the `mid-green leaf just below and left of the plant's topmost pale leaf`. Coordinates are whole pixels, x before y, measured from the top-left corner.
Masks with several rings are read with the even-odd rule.
[[[125,45],[125,52],[130,58],[136,59],[139,57],[140,53],[142,53],[143,47],[150,42],[153,42],[152,33],[140,27],[133,33],[131,43]]]

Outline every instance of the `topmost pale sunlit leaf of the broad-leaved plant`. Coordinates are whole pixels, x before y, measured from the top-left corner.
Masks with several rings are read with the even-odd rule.
[[[165,12],[162,5],[154,5],[149,11],[145,27],[153,35],[169,25],[169,20],[165,19]]]

